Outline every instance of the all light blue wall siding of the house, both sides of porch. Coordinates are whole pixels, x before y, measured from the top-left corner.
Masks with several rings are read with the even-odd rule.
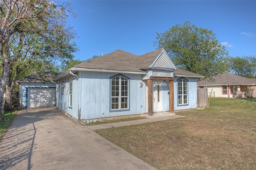
[[[123,74],[129,81],[129,110],[110,111],[110,77],[118,73],[78,71],[79,79],[74,75],[68,75],[59,79],[56,85],[56,106],[78,119],[78,110],[81,109],[81,119],[100,119],[124,115],[143,114],[148,111],[146,81],[141,80],[141,75]],[[188,80],[188,105],[178,105],[177,79],[174,77],[174,111],[196,108],[196,78],[184,77]],[[61,94],[61,83],[65,83],[64,95]],[[68,107],[68,83],[72,81],[72,108]],[[139,87],[142,81],[142,87]],[[146,83],[146,84],[145,84]],[[169,111],[168,86],[162,87],[162,111]]]

